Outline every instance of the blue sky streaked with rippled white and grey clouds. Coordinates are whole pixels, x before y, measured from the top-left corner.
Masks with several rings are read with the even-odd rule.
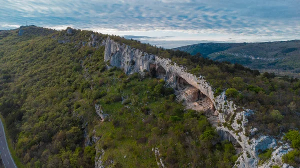
[[[300,39],[300,0],[0,0],[0,29],[67,26],[178,47]]]

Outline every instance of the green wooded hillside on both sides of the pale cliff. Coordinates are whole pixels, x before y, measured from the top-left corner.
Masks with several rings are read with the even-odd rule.
[[[159,156],[168,168],[232,168],[238,145],[220,141],[203,112],[185,109],[154,72],[127,76],[111,67],[100,43],[107,36],[36,26],[0,31],[0,113],[23,167],[93,168],[101,157],[105,166],[148,168]],[[296,78],[110,38],[170,58],[207,80],[215,96],[225,92],[239,108],[252,109],[247,128],[258,132],[248,136],[280,137],[300,126]],[[289,134],[285,142],[296,150],[285,160],[299,165],[300,136]]]

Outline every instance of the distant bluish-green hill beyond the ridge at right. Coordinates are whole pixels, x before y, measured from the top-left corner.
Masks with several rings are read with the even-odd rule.
[[[239,63],[277,75],[300,74],[300,40],[257,43],[199,43],[174,48],[218,61]]]

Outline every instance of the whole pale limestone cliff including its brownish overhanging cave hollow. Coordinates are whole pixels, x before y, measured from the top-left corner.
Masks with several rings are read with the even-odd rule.
[[[92,35],[91,41],[95,41],[94,38]],[[100,45],[105,46],[104,60],[111,66],[124,69],[127,75],[135,72],[142,74],[154,68],[156,77],[164,79],[168,86],[174,88],[177,100],[184,100],[183,104],[187,108],[204,109],[208,120],[216,127],[220,137],[241,146],[242,152],[235,167],[257,168],[258,151],[281,148],[277,146],[276,140],[269,136],[259,136],[257,139],[246,136],[246,116],[251,115],[253,111],[237,110],[240,108],[237,108],[232,101],[227,101],[224,93],[214,97],[214,89],[201,76],[188,73],[184,67],[173,64],[169,59],[162,59],[126,44],[119,44],[109,37]],[[254,128],[251,133],[255,134],[255,131]],[[275,150],[273,153],[272,155],[280,156],[281,153],[286,153],[286,150]],[[282,165],[281,157],[276,157],[276,160],[270,160],[259,167],[267,168],[278,164]]]

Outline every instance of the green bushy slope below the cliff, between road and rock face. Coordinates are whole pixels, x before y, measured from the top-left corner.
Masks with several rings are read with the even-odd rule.
[[[0,32],[0,112],[25,168],[93,168],[95,149],[105,151],[96,156],[104,165],[155,167],[152,148],[167,167],[233,167],[232,144],[176,102],[163,80],[108,69],[104,47],[76,46],[91,31],[22,30]]]

